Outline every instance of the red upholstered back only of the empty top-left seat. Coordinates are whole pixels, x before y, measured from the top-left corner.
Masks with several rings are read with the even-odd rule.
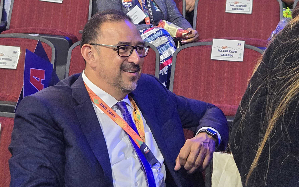
[[[92,0],[63,0],[62,3],[12,0],[7,29],[49,28],[74,34],[81,39],[91,17]]]

